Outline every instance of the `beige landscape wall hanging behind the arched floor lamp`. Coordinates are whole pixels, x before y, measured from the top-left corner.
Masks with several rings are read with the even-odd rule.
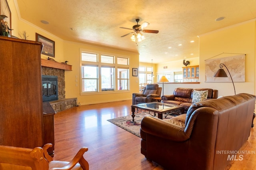
[[[205,60],[205,82],[232,82],[228,70],[222,67],[228,77],[213,77],[223,63],[228,68],[234,82],[245,82],[245,54]]]

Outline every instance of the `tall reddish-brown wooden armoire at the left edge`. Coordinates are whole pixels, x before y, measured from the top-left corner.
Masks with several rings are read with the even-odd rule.
[[[42,43],[0,36],[0,145],[44,143]]]

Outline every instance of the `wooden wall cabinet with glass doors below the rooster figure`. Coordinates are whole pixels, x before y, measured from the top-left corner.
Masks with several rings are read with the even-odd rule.
[[[182,67],[183,70],[183,79],[193,80],[193,82],[199,79],[199,66],[187,66]]]

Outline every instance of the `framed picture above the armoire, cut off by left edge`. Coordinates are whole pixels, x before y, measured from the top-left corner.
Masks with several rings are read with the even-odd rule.
[[[7,0],[0,0],[0,20],[1,21],[6,21],[7,25],[10,29],[12,29],[12,15],[11,15],[11,10],[10,7],[8,5]],[[1,27],[1,33],[0,35],[2,35],[2,25],[0,25]],[[9,30],[9,35],[12,35],[12,31]]]

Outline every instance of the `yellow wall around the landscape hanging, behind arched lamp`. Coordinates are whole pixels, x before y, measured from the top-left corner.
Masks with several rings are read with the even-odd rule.
[[[205,82],[205,60],[221,53],[246,54],[245,82],[234,82],[234,86],[236,94],[255,94],[255,22],[246,21],[200,36],[200,86],[219,90],[219,96],[234,95],[232,82]],[[232,54],[218,57],[228,56]]]

